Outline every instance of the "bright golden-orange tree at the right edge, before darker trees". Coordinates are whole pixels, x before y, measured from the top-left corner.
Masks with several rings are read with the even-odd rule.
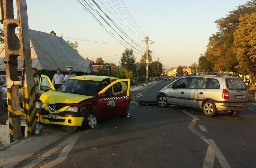
[[[240,27],[234,33],[234,53],[240,72],[249,72],[251,77],[256,69],[256,12],[240,16]]]

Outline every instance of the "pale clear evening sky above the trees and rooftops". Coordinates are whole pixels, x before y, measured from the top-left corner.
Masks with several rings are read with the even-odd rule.
[[[47,33],[55,31],[56,36],[63,36],[66,41],[79,43],[78,51],[82,57],[88,57],[93,61],[101,57],[105,63],[113,62],[115,65],[120,65],[119,61],[126,47],[133,49],[137,57],[136,61],[139,62],[141,55],[146,51],[146,43],[142,40],[148,36],[149,40],[154,42],[149,45],[149,49],[153,51],[153,61],[157,61],[159,57],[164,68],[169,69],[179,65],[191,66],[194,62],[198,63],[200,54],[206,50],[209,37],[218,31],[214,21],[225,17],[229,14],[228,11],[247,2],[245,0],[94,1],[132,39],[133,42],[129,41],[107,20],[113,29],[132,46],[119,40],[122,41],[123,45],[121,45],[116,40],[121,37],[97,17],[117,37],[115,39],[113,35],[111,36],[79,4],[81,2],[86,6],[85,2],[90,4],[89,2],[93,3],[92,0],[85,0],[85,2],[83,0],[27,0],[29,29]],[[107,19],[106,16],[103,17]]]

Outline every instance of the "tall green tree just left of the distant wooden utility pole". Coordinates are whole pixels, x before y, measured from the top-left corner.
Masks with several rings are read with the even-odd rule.
[[[136,57],[133,55],[133,50],[126,48],[122,54],[120,65],[124,67],[127,71],[132,71],[136,73]]]

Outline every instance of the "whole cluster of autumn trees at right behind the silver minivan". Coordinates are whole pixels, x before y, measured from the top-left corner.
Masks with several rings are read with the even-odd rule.
[[[198,70],[204,72],[233,72],[250,75],[255,83],[256,73],[256,0],[229,11],[215,21],[218,31],[209,37],[207,49],[198,60]]]

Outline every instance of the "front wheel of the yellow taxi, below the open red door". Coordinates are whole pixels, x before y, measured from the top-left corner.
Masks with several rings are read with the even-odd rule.
[[[97,127],[98,120],[95,113],[92,110],[88,110],[83,119],[83,128],[94,129]]]

